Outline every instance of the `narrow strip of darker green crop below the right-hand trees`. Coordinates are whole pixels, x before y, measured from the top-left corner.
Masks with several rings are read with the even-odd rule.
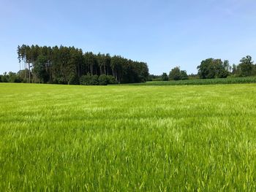
[[[217,84],[244,84],[256,83],[256,77],[227,77],[217,79],[195,79],[195,80],[170,80],[170,81],[148,81],[127,85],[217,85]]]

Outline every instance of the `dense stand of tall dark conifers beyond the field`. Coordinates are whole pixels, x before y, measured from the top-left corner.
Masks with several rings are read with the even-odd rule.
[[[27,82],[98,85],[145,82],[146,63],[119,55],[83,53],[75,47],[18,46],[20,76]],[[103,83],[105,84],[105,83]]]

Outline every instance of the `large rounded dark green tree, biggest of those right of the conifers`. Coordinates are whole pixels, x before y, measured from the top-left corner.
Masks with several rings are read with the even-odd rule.
[[[221,59],[208,58],[197,66],[198,75],[201,79],[226,78],[229,74],[230,66],[228,61],[222,62]]]

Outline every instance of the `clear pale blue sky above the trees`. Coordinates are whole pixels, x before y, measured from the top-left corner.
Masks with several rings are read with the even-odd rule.
[[[205,58],[256,61],[255,0],[0,0],[0,74],[18,45],[64,45],[188,73]]]

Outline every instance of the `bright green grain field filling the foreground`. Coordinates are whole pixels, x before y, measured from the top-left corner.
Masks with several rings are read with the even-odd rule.
[[[0,83],[0,191],[255,191],[256,84]]]

